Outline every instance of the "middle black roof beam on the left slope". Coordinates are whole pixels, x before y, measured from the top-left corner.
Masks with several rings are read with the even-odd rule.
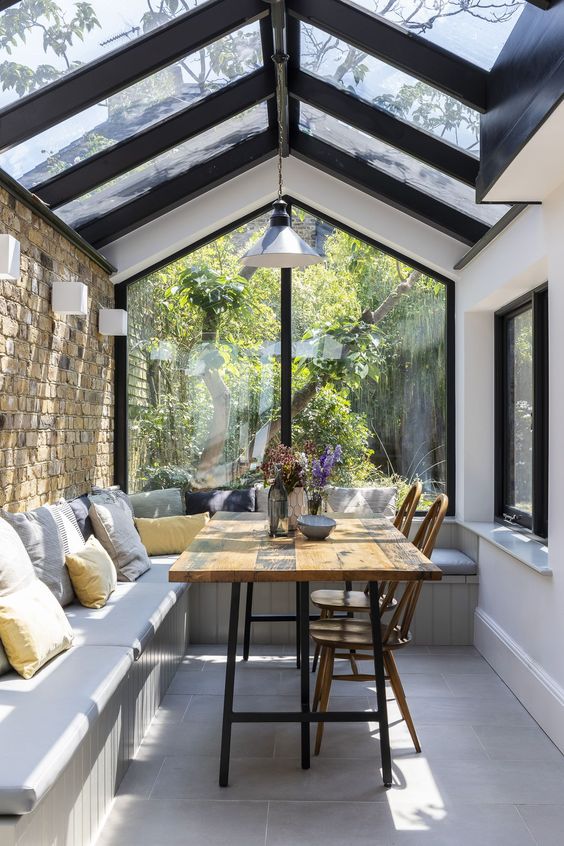
[[[256,71],[144,132],[68,168],[32,191],[48,205],[60,206],[273,96],[271,75],[264,70]]]

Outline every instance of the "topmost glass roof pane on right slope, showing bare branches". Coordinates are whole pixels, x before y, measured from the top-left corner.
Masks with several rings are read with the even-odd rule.
[[[525,0],[351,0],[451,53],[490,70]]]

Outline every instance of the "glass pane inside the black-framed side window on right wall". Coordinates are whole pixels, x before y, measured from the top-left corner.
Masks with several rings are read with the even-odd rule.
[[[533,312],[507,321],[507,505],[533,509]]]

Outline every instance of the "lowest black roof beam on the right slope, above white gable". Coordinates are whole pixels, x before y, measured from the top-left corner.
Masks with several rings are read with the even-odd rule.
[[[488,231],[488,227],[479,220],[468,217],[305,132],[298,130],[292,133],[290,145],[292,155],[296,158],[313,164],[347,185],[370,194],[464,244],[472,246]]]

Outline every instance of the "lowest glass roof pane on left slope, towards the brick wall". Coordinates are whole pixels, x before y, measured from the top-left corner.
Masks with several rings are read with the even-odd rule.
[[[57,214],[70,226],[80,228],[267,128],[267,106],[266,103],[259,103],[60,206],[56,210]]]

